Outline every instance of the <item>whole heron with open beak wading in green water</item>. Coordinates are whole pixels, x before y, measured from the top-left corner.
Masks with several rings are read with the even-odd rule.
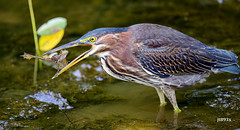
[[[53,78],[79,61],[97,55],[106,73],[120,80],[154,87],[160,106],[166,105],[165,94],[176,112],[181,110],[175,89],[203,82],[211,72],[240,72],[234,53],[209,47],[177,30],[157,24],[95,29],[44,55],[82,45],[91,46],[91,49],[71,61]]]

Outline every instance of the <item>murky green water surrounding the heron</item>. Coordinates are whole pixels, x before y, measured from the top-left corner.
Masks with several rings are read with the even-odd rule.
[[[34,0],[33,6],[38,27],[53,17],[68,19],[60,44],[99,27],[156,23],[240,56],[239,0]],[[20,57],[35,52],[27,0],[0,1],[0,41],[0,129],[240,128],[239,75],[212,74],[177,90],[182,112],[176,115],[169,102],[158,107],[155,89],[106,75],[97,57],[54,80],[56,70],[43,66],[33,86],[34,60]],[[87,49],[69,49],[68,60]]]

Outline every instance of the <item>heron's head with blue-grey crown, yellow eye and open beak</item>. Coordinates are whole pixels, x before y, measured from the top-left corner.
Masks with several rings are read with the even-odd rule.
[[[100,57],[107,56],[110,51],[114,48],[118,37],[115,34],[126,32],[128,30],[127,27],[125,28],[99,28],[93,31],[88,32],[87,34],[83,35],[76,41],[67,43],[60,47],[54,48],[43,55],[50,54],[52,52],[56,52],[59,50],[63,50],[66,48],[76,47],[76,46],[91,46],[91,49],[84,52],[73,61],[71,61],[68,65],[66,65],[62,70],[57,72],[53,78],[56,78],[58,75],[62,74],[68,68],[72,67],[73,65],[77,64],[79,61],[91,56],[97,55]]]

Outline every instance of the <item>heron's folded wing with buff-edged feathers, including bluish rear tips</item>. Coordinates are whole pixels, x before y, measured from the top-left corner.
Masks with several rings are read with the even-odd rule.
[[[147,39],[137,45],[134,55],[146,71],[160,77],[201,74],[236,62],[231,52],[200,44],[197,40],[188,41]]]

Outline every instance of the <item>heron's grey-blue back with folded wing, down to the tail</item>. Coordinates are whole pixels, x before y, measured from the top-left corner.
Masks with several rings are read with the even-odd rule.
[[[172,28],[138,24],[130,29],[134,37],[133,55],[153,75],[201,74],[212,68],[224,71],[222,68],[232,65],[239,68],[234,53],[209,47]]]

